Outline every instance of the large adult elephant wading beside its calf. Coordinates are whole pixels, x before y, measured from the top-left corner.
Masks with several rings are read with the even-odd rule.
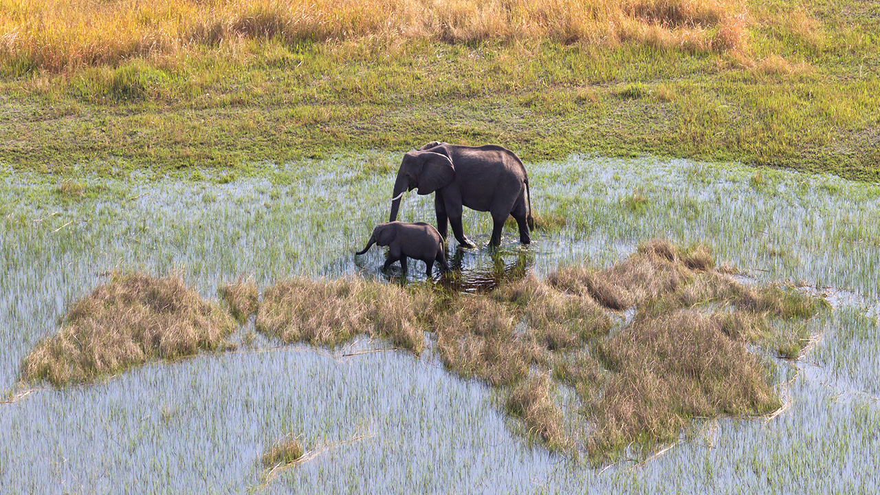
[[[448,237],[448,221],[458,244],[475,247],[461,226],[462,206],[466,206],[492,214],[490,246],[501,244],[502,228],[509,215],[517,220],[519,241],[532,242],[529,230],[534,220],[529,177],[523,161],[503,146],[461,146],[435,141],[407,152],[394,181],[389,221],[397,219],[400,197],[413,189],[420,195],[435,193],[437,231],[444,239]]]

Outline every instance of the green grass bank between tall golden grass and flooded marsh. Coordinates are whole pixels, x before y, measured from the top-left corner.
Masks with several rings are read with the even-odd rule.
[[[253,41],[238,56],[7,70],[0,169],[189,177],[189,167],[206,166],[234,177],[263,160],[441,139],[500,143],[526,160],[652,154],[880,181],[880,20],[870,8],[805,2],[818,28],[804,32],[784,20],[788,4],[754,3],[744,56],[627,44]]]

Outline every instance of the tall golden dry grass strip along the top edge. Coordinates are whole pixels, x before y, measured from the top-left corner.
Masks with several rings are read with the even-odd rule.
[[[61,71],[135,57],[234,54],[248,40],[623,42],[744,50],[742,0],[0,0],[0,63]]]

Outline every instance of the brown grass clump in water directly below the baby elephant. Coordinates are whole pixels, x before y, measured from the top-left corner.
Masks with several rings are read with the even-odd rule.
[[[256,328],[286,343],[335,347],[356,334],[385,336],[419,353],[432,293],[359,279],[295,278],[268,287]]]

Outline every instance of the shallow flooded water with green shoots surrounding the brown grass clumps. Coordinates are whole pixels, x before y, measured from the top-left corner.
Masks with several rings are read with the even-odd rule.
[[[353,253],[387,220],[399,163],[372,153],[262,165],[259,179],[228,183],[85,177],[64,190],[4,173],[0,383],[17,389],[21,359],[108,270],[182,270],[211,299],[242,273],[261,287],[294,275],[385,277],[382,249]],[[526,166],[533,207],[565,225],[535,233],[531,247],[506,229],[497,255],[459,253],[465,290],[523,269],[606,266],[656,236],[704,242],[719,263],[818,287],[835,307],[802,360],[775,361],[788,408],[766,423],[700,422],[643,465],[590,469],[530,446],[495,392],[430,352],[344,357],[386,344],[272,349],[260,336],[256,351],[152,363],[0,404],[0,492],[877,491],[880,187],[687,160]],[[409,193],[400,219],[434,223],[432,206]],[[485,245],[488,213],[466,211],[465,230]],[[422,266],[411,262],[408,283]],[[260,455],[287,433],[320,453],[266,479]]]

